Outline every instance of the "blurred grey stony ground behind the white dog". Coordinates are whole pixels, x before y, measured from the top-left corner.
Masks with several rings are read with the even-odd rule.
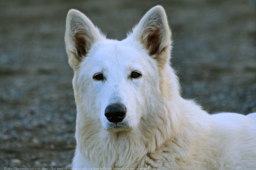
[[[209,113],[256,112],[255,0],[0,0],[0,168],[66,167],[76,107],[66,14],[123,39],[154,5],[172,29],[182,96]]]

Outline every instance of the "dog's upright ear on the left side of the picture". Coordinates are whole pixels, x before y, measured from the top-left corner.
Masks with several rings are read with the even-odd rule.
[[[95,27],[83,13],[71,9],[67,13],[65,44],[69,58],[69,65],[77,69],[97,40],[104,38],[99,29]]]

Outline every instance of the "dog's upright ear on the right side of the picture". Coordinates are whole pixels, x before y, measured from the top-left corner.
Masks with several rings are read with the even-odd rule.
[[[171,31],[163,7],[150,9],[133,28],[131,36],[142,43],[160,66],[170,59]]]

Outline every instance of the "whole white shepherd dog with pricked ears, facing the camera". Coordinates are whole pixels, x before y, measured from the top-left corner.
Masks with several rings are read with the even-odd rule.
[[[65,43],[77,107],[74,168],[256,169],[256,113],[209,115],[180,96],[163,7],[122,41],[72,9]]]

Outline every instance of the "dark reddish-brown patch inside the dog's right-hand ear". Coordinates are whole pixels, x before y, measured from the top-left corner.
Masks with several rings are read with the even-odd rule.
[[[149,55],[154,55],[159,53],[159,45],[160,45],[160,30],[156,29],[149,33],[147,36],[147,48],[149,50]]]

